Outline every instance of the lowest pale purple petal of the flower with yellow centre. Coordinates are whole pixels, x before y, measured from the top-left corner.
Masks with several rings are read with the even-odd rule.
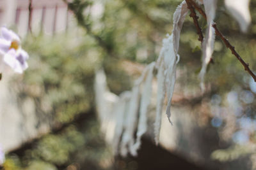
[[[14,49],[11,49],[4,55],[4,62],[12,67],[13,71],[17,73],[22,73],[23,69],[22,66],[20,65],[19,60],[16,59],[16,52]]]

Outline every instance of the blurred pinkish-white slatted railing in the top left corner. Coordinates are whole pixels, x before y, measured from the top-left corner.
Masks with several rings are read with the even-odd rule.
[[[62,0],[31,0],[30,17],[29,0],[0,0],[0,25],[15,25],[23,37],[29,29],[33,34],[44,32],[53,35],[76,24]]]

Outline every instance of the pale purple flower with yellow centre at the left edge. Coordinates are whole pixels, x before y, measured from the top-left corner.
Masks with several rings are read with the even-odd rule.
[[[0,54],[3,55],[4,63],[17,73],[22,73],[28,68],[26,60],[29,55],[22,50],[19,36],[6,27],[1,28]]]

